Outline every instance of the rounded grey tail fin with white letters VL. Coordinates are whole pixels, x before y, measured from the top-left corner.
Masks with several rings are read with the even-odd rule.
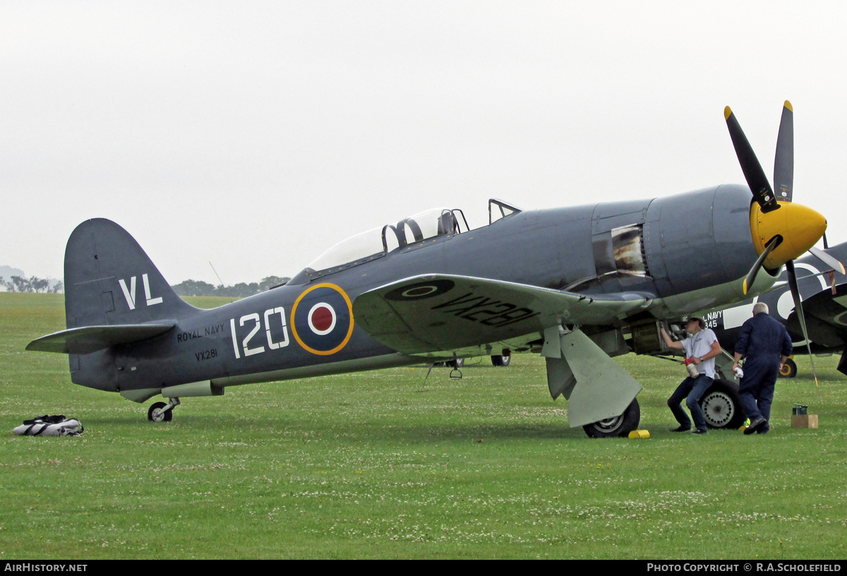
[[[105,218],[77,226],[64,252],[67,326],[139,325],[199,310],[174,293],[136,239]]]

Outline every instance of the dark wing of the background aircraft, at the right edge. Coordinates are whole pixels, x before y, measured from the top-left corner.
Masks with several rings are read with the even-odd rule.
[[[839,284],[835,290],[833,294],[827,288],[803,300],[809,339],[827,348],[841,348],[847,343],[847,284]],[[789,315],[786,327],[797,336],[803,333],[796,311]]]

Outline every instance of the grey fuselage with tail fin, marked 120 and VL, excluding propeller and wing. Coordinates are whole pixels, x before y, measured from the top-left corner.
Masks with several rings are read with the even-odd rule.
[[[369,335],[352,314],[359,294],[432,273],[589,295],[641,293],[650,302],[642,315],[672,320],[749,298],[740,281],[756,258],[750,190],[727,184],[651,200],[519,211],[483,228],[410,242],[356,264],[307,269],[279,288],[199,310],[173,293],[128,233],[112,222],[91,220],[75,230],[66,251],[68,328],[165,320],[175,326],[141,342],[70,354],[71,379],[141,402],[191,382],[211,381],[222,393],[223,387],[251,382],[451,357],[449,350],[401,354]],[[760,274],[752,293],[774,280]],[[533,341],[543,334],[530,321],[535,314],[532,306],[473,293],[457,294],[457,304],[431,310],[435,321],[451,315],[508,326],[493,352],[491,343],[479,342],[488,344],[480,349],[490,354],[499,354],[496,346],[509,338],[527,343],[517,351],[537,350],[540,343]],[[625,329],[629,320],[610,316],[602,324]]]

